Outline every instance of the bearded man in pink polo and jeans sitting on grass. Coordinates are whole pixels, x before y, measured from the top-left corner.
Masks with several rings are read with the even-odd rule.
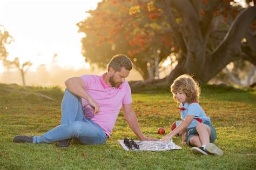
[[[84,75],[65,81],[60,125],[42,136],[18,135],[14,142],[52,143],[68,147],[71,139],[81,144],[102,144],[110,137],[120,108],[124,118],[139,140],[158,140],[144,137],[132,108],[131,89],[125,78],[132,69],[131,60],[116,55],[102,76]]]

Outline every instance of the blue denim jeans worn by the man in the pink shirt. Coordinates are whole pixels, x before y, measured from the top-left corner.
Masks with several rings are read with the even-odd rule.
[[[81,144],[90,145],[102,144],[107,137],[99,125],[84,117],[82,99],[66,89],[62,99],[60,125],[42,136],[33,137],[33,143],[52,143],[72,138]]]

